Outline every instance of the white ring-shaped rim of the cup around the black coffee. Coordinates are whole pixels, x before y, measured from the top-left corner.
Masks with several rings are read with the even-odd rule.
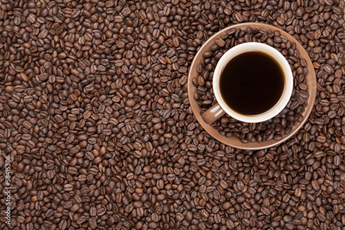
[[[273,57],[278,63],[282,66],[283,72],[285,75],[285,84],[282,96],[279,98],[278,102],[270,108],[268,111],[264,113],[260,113],[258,115],[242,115],[233,111],[225,102],[223,97],[221,97],[220,90],[219,90],[219,78],[221,75],[221,71],[223,70],[224,66],[232,59],[233,57],[249,51],[260,51],[265,52],[266,54]],[[230,117],[233,117],[242,122],[248,123],[257,123],[257,122],[264,122],[268,119],[275,117],[275,115],[279,114],[288,104],[291,94],[293,92],[293,73],[288,64],[288,61],[282,55],[281,52],[273,48],[272,46],[268,46],[267,44],[262,44],[259,42],[247,42],[244,44],[239,44],[233,48],[230,48],[224,55],[219,59],[217,66],[215,68],[215,72],[213,74],[213,93],[219,103],[219,106],[228,114]]]

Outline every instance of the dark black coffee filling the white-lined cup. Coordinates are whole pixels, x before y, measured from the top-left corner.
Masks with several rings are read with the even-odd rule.
[[[257,115],[275,106],[284,90],[282,66],[264,52],[249,51],[231,59],[219,88],[226,104],[242,115]]]

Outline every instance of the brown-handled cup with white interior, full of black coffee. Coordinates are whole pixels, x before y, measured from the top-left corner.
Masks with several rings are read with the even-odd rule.
[[[279,114],[293,92],[293,73],[275,48],[248,42],[230,48],[213,74],[217,104],[202,114],[211,124],[224,114],[239,121],[264,122]]]

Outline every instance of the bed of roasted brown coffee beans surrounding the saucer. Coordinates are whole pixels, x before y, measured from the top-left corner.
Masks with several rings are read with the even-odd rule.
[[[0,5],[0,229],[345,229],[344,2]],[[260,151],[210,137],[186,91],[203,42],[248,21],[293,35],[317,73],[308,122]]]

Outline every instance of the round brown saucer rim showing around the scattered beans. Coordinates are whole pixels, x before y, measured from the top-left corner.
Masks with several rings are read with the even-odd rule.
[[[308,106],[306,107],[304,113],[302,113],[304,119],[302,122],[297,122],[295,126],[293,126],[292,131],[286,135],[282,135],[281,140],[268,140],[268,141],[263,141],[263,142],[247,142],[243,143],[239,138],[235,136],[231,137],[226,137],[225,135],[221,135],[217,129],[215,129],[213,126],[206,124],[204,120],[202,119],[200,112],[201,112],[201,107],[197,104],[197,101],[194,99],[193,95],[195,94],[197,88],[193,86],[192,79],[195,79],[198,77],[197,74],[197,65],[200,63],[200,61],[203,59],[202,55],[204,52],[209,51],[211,46],[215,44],[215,40],[221,35],[226,34],[226,32],[232,28],[237,28],[237,29],[243,29],[246,30],[246,28],[251,27],[253,29],[255,28],[265,28],[266,30],[279,30],[281,35],[284,35],[288,37],[288,39],[291,42],[295,42],[297,50],[299,50],[299,57],[306,59],[307,61],[307,68],[308,68],[308,74],[306,75],[306,82],[308,84]],[[315,95],[316,95],[316,77],[315,77],[315,70],[313,68],[313,64],[311,62],[311,59],[308,56],[308,53],[304,48],[302,47],[299,42],[293,38],[291,35],[289,35],[287,32],[284,30],[281,30],[279,28],[276,28],[275,26],[270,26],[268,24],[264,23],[240,23],[234,26],[229,26],[228,28],[224,28],[223,30],[220,30],[217,32],[215,35],[210,37],[206,43],[201,46],[200,50],[197,52],[197,55],[195,55],[192,65],[190,66],[189,74],[188,74],[188,97],[189,97],[189,102],[190,106],[192,107],[193,113],[195,117],[197,117],[197,121],[201,126],[205,129],[206,132],[208,132],[212,137],[215,139],[219,140],[219,142],[222,142],[226,145],[232,146],[234,148],[242,148],[242,149],[248,149],[248,150],[255,150],[255,149],[263,149],[263,148],[270,148],[272,146],[276,146],[277,144],[280,144],[282,142],[285,142],[288,138],[293,136],[299,128],[303,126],[303,124],[306,122],[308,119],[309,115],[311,114],[311,111],[314,106],[315,102]]]

